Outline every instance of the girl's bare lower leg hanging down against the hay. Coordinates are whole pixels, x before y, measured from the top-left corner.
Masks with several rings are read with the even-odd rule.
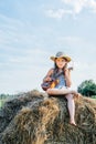
[[[68,107],[68,112],[70,112],[70,123],[72,125],[76,125],[75,123],[75,103],[74,103],[74,99],[73,99],[73,94],[67,94],[65,96],[67,99],[67,107]]]

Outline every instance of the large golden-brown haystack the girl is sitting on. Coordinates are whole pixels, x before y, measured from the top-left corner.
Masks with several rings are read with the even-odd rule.
[[[18,104],[14,106],[17,111],[11,110],[11,119],[1,130],[1,143],[96,144],[95,100],[83,96],[75,100],[77,126],[68,124],[70,115],[64,96],[47,97],[45,93],[31,91],[17,100],[19,103],[18,109]],[[14,100],[11,101],[11,106],[12,102],[14,105]]]

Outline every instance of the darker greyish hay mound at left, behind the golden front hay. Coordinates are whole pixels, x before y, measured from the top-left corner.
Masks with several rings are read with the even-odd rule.
[[[7,101],[0,111],[0,133],[9,125],[22,106],[32,105],[44,97],[46,97],[45,94],[33,90],[28,93],[18,94],[15,99]]]

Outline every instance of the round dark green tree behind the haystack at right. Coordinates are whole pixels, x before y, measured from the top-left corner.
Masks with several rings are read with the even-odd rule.
[[[85,80],[79,84],[77,91],[85,96],[96,95],[96,84],[93,80]]]

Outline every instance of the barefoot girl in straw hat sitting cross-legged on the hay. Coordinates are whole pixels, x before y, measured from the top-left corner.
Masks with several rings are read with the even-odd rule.
[[[49,88],[46,93],[49,95],[64,95],[67,99],[67,107],[70,112],[70,123],[76,125],[75,123],[75,104],[73,96],[78,96],[76,91],[71,90],[71,70],[67,69],[67,63],[71,61],[71,58],[65,55],[63,52],[57,52],[55,56],[51,56],[51,60],[54,61],[54,69],[51,69],[46,76],[43,79],[43,82],[51,81],[51,76],[55,76],[58,73],[58,83],[54,88]]]

